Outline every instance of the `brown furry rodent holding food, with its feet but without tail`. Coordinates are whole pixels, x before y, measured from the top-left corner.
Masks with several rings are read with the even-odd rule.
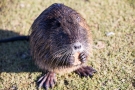
[[[39,87],[53,87],[55,74],[74,71],[80,76],[96,72],[86,66],[92,52],[89,26],[75,10],[63,4],[52,4],[31,26],[30,47],[35,64],[48,71],[38,80]]]

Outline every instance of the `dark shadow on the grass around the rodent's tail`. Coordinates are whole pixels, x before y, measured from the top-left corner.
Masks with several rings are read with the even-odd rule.
[[[0,29],[0,39],[19,36],[11,30]],[[0,73],[1,72],[38,72],[30,56],[28,41],[0,43]]]

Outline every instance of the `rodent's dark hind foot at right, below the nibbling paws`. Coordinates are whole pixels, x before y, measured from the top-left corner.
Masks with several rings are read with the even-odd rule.
[[[95,69],[93,69],[90,66],[85,66],[85,67],[81,67],[77,70],[74,71],[76,74],[78,74],[80,77],[93,77],[93,74],[96,73],[97,71]]]

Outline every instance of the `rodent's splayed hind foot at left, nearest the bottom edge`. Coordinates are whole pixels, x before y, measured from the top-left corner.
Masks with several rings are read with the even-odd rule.
[[[42,76],[38,80],[39,88],[43,87],[45,90],[48,90],[48,88],[52,88],[56,83],[56,77],[55,73],[48,72],[46,75]]]

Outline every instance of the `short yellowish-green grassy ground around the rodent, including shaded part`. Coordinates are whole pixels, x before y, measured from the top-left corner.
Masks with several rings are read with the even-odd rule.
[[[92,79],[58,75],[53,90],[135,89],[134,0],[1,0],[0,39],[28,35],[34,19],[55,2],[74,8],[87,20],[94,39],[88,64],[98,73]],[[107,36],[109,32],[115,35]],[[0,90],[36,90],[41,74],[28,42],[0,44]]]

